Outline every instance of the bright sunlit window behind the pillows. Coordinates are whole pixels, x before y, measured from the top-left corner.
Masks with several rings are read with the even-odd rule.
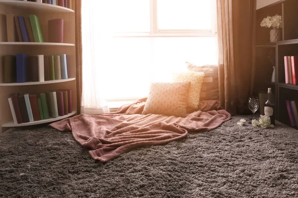
[[[185,61],[218,62],[215,0],[93,2],[94,61],[109,101],[148,96],[151,82],[169,81],[173,71],[186,69]]]

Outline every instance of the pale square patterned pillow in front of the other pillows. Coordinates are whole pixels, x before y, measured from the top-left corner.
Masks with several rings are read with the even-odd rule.
[[[186,116],[189,82],[152,83],[142,114]]]

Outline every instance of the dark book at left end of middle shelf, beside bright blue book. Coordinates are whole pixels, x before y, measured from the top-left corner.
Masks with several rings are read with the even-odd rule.
[[[16,82],[16,57],[14,55],[4,55],[4,83]]]

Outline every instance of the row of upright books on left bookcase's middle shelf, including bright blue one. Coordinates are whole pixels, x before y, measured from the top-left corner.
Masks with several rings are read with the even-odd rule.
[[[4,83],[43,82],[49,80],[68,79],[69,56],[58,55],[32,55],[18,53],[5,55]]]

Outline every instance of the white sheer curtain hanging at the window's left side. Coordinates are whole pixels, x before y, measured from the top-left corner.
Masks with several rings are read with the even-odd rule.
[[[105,101],[103,86],[107,82],[102,81],[106,74],[102,72],[104,67],[102,48],[103,37],[100,35],[98,18],[100,10],[94,6],[95,0],[82,2],[82,99],[81,113],[102,114],[109,113]]]

